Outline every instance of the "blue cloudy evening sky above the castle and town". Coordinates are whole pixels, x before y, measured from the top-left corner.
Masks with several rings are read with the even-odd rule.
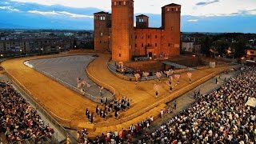
[[[256,0],[134,0],[134,13],[148,14],[152,22],[150,26],[161,26],[161,7],[170,3],[182,5],[184,31],[256,33]],[[0,19],[6,19],[2,23],[18,26],[6,17],[18,18],[21,15],[33,19],[33,16],[38,16],[51,23],[57,20],[59,28],[74,22],[81,29],[78,22],[87,22],[84,24],[87,27],[83,28],[92,29],[93,13],[99,10],[110,12],[110,9],[110,0],[1,0]],[[65,23],[61,18],[70,19]],[[75,26],[70,26],[70,29],[75,29]]]

